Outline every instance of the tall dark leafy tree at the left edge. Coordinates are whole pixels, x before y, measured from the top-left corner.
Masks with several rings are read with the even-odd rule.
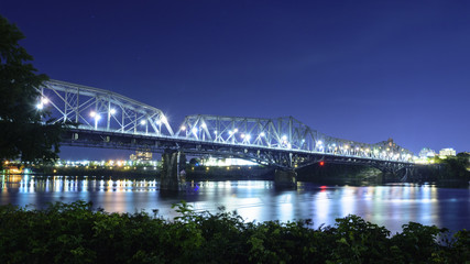
[[[0,168],[4,160],[50,162],[57,158],[63,124],[36,109],[39,88],[48,77],[36,74],[33,57],[20,46],[21,31],[0,15]]]

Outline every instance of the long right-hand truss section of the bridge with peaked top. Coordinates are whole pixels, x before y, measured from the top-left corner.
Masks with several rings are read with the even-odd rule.
[[[284,167],[305,166],[318,161],[336,163],[411,163],[413,153],[393,140],[368,144],[332,138],[311,130],[293,117],[256,119],[197,114],[188,116],[175,133],[192,141],[239,147],[241,156],[258,163]],[[250,148],[256,155],[250,155]],[[252,153],[251,153],[252,154]]]

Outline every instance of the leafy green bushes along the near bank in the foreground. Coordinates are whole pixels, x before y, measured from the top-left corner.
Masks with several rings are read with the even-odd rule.
[[[244,222],[238,215],[195,212],[185,202],[172,220],[152,213],[107,213],[91,204],[44,210],[0,207],[4,263],[464,263],[470,231],[409,222],[393,234],[356,216],[332,227]],[[51,229],[51,227],[54,227]]]

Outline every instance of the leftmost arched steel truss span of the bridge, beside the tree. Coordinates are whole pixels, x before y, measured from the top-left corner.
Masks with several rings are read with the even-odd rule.
[[[112,91],[50,80],[41,89],[37,107],[55,122],[73,121],[81,129],[172,136],[165,114],[154,107]]]

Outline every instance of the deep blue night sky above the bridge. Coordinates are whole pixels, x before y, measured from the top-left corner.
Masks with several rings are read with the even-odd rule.
[[[415,154],[470,151],[470,1],[6,0],[0,14],[40,73],[156,107],[173,128],[292,116]]]

